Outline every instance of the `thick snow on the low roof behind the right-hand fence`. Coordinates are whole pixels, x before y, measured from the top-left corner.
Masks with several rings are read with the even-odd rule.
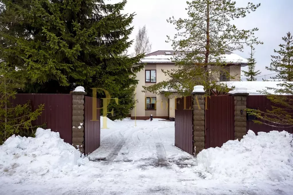
[[[234,90],[230,91],[230,94],[239,93],[240,91],[244,92],[244,88],[246,88],[246,92],[249,95],[263,95],[260,93],[261,91],[266,90],[270,94],[274,94],[273,89],[268,89],[267,87],[272,87],[276,89],[281,89],[277,84],[284,83],[283,81],[225,81],[219,82],[223,84],[227,84],[229,88],[235,87]],[[293,84],[293,82],[287,82]]]

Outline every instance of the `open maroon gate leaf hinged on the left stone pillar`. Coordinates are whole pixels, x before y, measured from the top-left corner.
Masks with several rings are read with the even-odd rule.
[[[85,154],[100,147],[100,99],[85,96],[84,103],[84,148]],[[94,117],[96,116],[96,118]]]

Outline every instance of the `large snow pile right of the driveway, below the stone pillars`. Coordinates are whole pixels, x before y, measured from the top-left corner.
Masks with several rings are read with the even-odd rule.
[[[251,130],[221,148],[209,148],[197,155],[197,172],[206,180],[250,183],[255,181],[293,181],[292,134]]]

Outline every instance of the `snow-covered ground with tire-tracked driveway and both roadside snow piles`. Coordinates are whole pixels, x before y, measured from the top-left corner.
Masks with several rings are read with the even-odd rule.
[[[250,131],[195,159],[173,146],[174,122],[107,126],[88,157],[49,130],[10,137],[0,146],[0,194],[292,194],[292,134]]]

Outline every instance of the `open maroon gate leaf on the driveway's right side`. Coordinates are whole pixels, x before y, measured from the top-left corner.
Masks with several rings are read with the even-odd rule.
[[[175,146],[193,155],[192,96],[175,100]]]

